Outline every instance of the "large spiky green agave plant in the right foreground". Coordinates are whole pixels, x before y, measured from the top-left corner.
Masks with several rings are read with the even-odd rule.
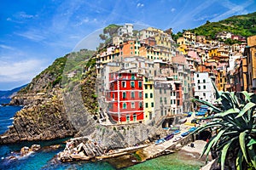
[[[256,169],[256,94],[245,91],[218,92],[213,86],[220,106],[194,99],[208,105],[216,113],[208,117],[211,122],[195,131],[200,133],[210,128],[217,132],[208,141],[201,156],[206,154],[208,159],[209,152],[214,150],[218,154],[221,169],[224,169],[227,162],[230,162],[232,169]]]

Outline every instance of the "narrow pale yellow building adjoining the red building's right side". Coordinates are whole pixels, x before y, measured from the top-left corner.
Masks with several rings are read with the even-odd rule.
[[[144,120],[149,122],[152,120],[154,113],[154,82],[153,77],[143,77],[143,105],[144,105]]]

